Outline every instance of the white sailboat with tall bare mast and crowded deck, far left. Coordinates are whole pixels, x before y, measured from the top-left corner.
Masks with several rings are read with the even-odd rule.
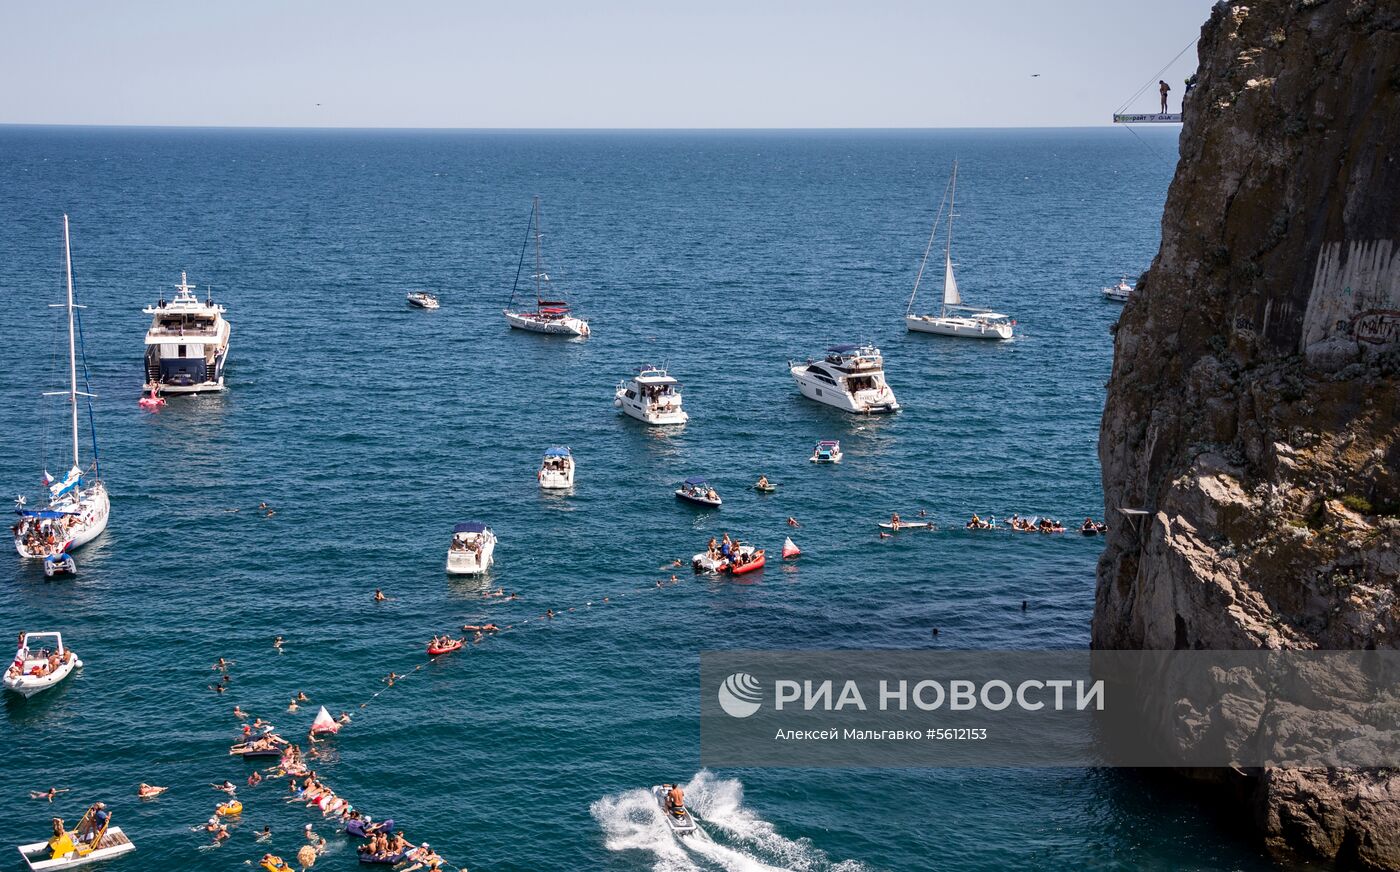
[[[67,270],[69,297],[66,304],[55,304],[53,308],[66,308],[69,315],[69,389],[48,392],[45,396],[67,396],[73,426],[73,467],[62,480],[55,479],[45,470],[43,484],[49,488],[49,502],[41,509],[25,508],[24,497],[17,500],[15,514],[20,523],[14,528],[14,550],[21,557],[43,558],[46,561],[64,561],[71,567],[71,557],[67,553],[81,544],[97,539],[98,533],[106,529],[106,518],[111,509],[106,487],[98,477],[97,465],[97,431],[92,430],[92,395],[78,391],[78,342],[81,340],[81,319],[77,309],[83,307],[73,302],[73,246],[69,244],[69,217],[63,216],[63,256]],[[83,363],[84,386],[87,386],[87,358]],[[84,474],[78,456],[78,398],[87,399],[88,428],[92,430],[92,467],[91,474]]]

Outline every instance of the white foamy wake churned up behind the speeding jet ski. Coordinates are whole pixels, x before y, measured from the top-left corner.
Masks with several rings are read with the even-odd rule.
[[[743,805],[743,785],[700,770],[683,785],[700,830],[675,836],[650,789],[603,796],[589,809],[609,851],[652,854],[654,872],[861,872],[855,861],[832,861],[806,838],[787,838]]]

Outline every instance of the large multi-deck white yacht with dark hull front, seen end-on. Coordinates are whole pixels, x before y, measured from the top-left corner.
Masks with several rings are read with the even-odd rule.
[[[162,294],[143,312],[151,316],[146,332],[146,389],[162,393],[200,393],[224,389],[228,358],[228,322],[224,307],[200,301],[185,273],[174,300]]]

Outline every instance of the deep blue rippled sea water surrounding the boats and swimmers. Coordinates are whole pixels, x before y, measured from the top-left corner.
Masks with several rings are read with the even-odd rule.
[[[34,494],[66,463],[63,409],[38,395],[62,386],[46,304],[67,211],[112,491],[77,578],[0,560],[10,633],[62,630],[85,661],[57,690],[4,701],[0,844],[101,798],[139,845],[113,868],[291,855],[312,816],[281,802],[281,781],[241,791],[224,847],[190,827],[220,798],[210,782],[246,777],[225,754],[235,703],[288,735],[325,704],[354,722],[322,778],[473,869],[1264,866],[1128,773],[699,764],[706,648],[1088,644],[1098,540],[955,528],[974,511],[1103,514],[1117,308],[1099,288],[1155,253],[1159,153],[1175,153],[1175,130],[1142,136],[1152,148],[1123,130],[0,127],[0,487]],[[1012,314],[1012,343],[903,329],[953,158],[963,295]],[[500,316],[536,193],[587,342]],[[147,414],[140,309],[181,270],[228,307],[228,391]],[[410,311],[413,288],[442,308]],[[797,395],[788,358],[862,340],[906,412],[855,419]],[[685,428],[612,407],[645,361],[687,385]],[[813,467],[829,437],[846,462]],[[535,484],[556,442],[578,456],[568,495]],[[759,472],[777,494],[745,490]],[[690,474],[718,486],[720,512],[671,495]],[[945,532],[875,536],[920,508]],[[442,572],[466,518],[500,536],[487,582]],[[680,571],[655,586],[721,530],[770,549],[791,532],[806,553],[742,582]],[[497,586],[518,599],[483,596]],[[483,621],[514,628],[427,662],[428,635]],[[223,696],[207,687],[218,656]],[[388,687],[391,670],[407,677]],[[312,704],[290,714],[298,690]],[[661,829],[638,788],[662,780],[690,782],[706,840]],[[171,789],[141,803],[140,781]],[[71,792],[25,798],[50,784]],[[265,823],[276,837],[255,844]],[[316,866],[356,865],[333,837]]]

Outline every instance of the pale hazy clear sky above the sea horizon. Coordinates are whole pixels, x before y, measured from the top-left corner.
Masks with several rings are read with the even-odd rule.
[[[1155,111],[1210,0],[0,0],[0,123],[994,127]],[[1173,109],[1196,67],[1172,64]],[[1036,76],[1039,74],[1039,76]]]

